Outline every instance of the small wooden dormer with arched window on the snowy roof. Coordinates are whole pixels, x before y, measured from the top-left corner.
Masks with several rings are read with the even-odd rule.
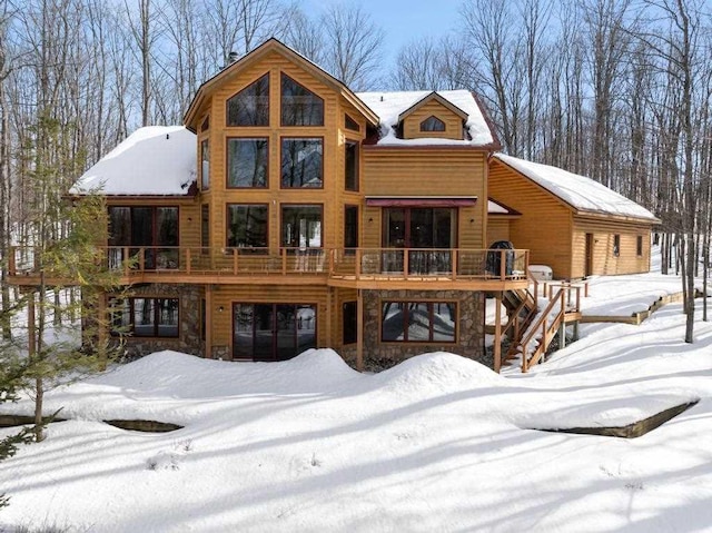
[[[437,92],[431,92],[398,116],[402,139],[466,140],[467,113]]]

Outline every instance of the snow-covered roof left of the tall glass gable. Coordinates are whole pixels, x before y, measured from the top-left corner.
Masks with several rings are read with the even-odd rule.
[[[185,196],[196,180],[196,136],[182,126],[149,126],[87,170],[70,194]]]

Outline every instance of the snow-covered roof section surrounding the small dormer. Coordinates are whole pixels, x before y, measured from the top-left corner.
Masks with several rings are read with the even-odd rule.
[[[398,125],[398,117],[423,100],[433,91],[396,91],[396,92],[357,92],[356,96],[374,110],[380,119],[379,146],[429,146],[429,145],[464,145],[464,146],[490,146],[495,142],[490,125],[485,120],[477,100],[468,90],[443,90],[437,91],[442,98],[451,102],[458,109],[467,113],[465,128],[471,139],[455,140],[442,138],[423,139],[398,139],[395,127]]]

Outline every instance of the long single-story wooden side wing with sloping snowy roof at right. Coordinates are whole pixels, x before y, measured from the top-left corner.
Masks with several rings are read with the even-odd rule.
[[[488,194],[520,214],[510,221],[508,240],[558,279],[650,270],[650,234],[660,220],[597,181],[494,154]]]

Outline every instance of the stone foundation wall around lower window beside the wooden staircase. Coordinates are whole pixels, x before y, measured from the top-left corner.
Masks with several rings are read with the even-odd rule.
[[[380,343],[382,302],[439,300],[457,302],[457,339],[454,344]],[[451,352],[486,364],[484,349],[484,293],[465,290],[364,290],[364,365],[383,369],[413,355]],[[354,347],[354,354],[356,348]],[[348,362],[347,354],[343,354]],[[350,355],[350,354],[349,354]]]

